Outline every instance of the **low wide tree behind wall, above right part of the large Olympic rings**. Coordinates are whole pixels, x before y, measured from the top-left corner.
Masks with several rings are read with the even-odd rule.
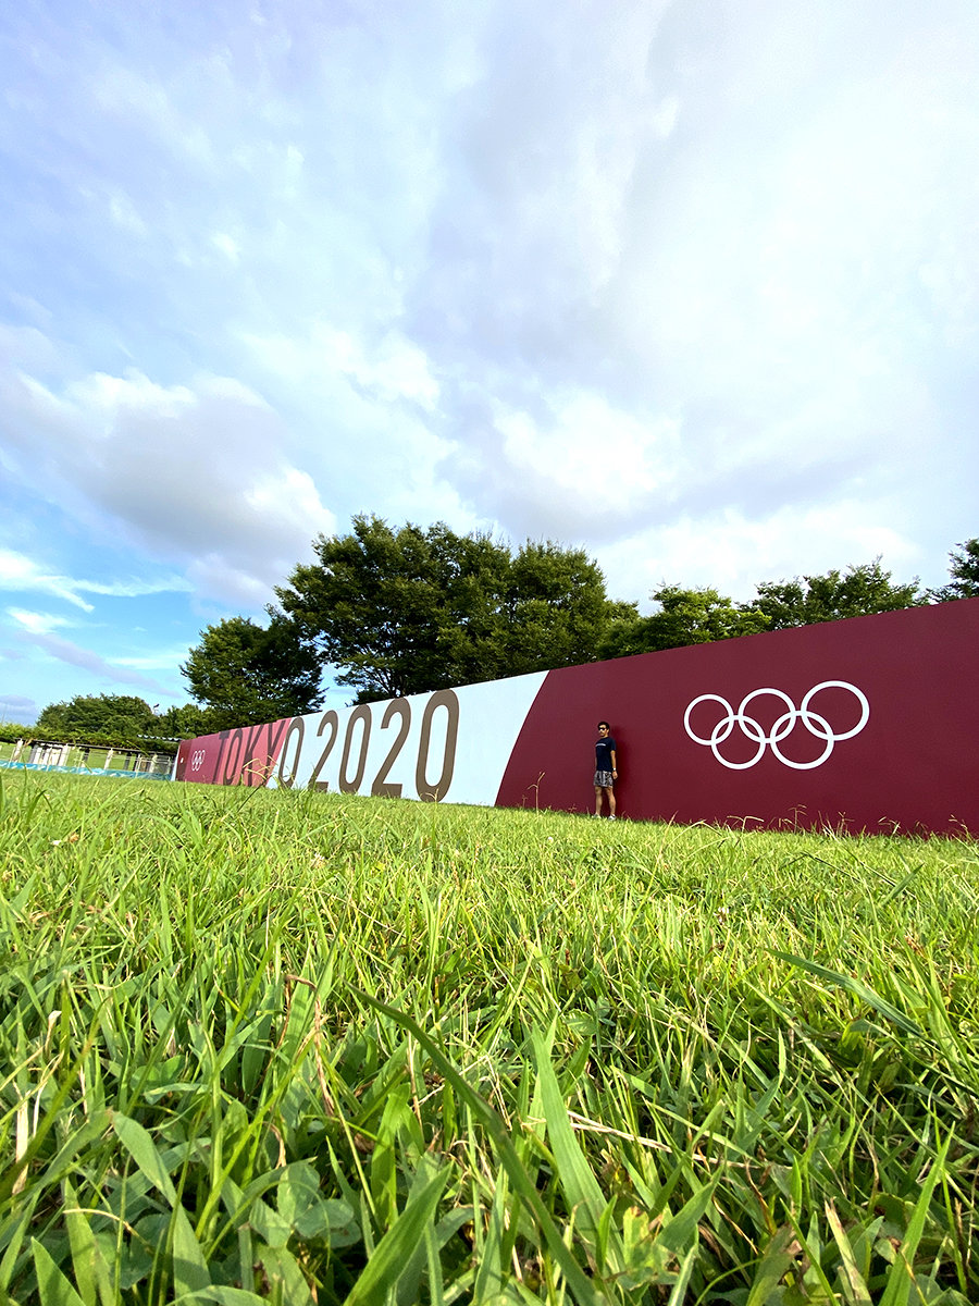
[[[928,602],[928,596],[918,588],[916,576],[906,585],[895,585],[880,558],[850,567],[843,575],[829,571],[825,576],[762,581],[757,593],[751,607],[769,618],[773,631],[869,613],[893,613]]]

